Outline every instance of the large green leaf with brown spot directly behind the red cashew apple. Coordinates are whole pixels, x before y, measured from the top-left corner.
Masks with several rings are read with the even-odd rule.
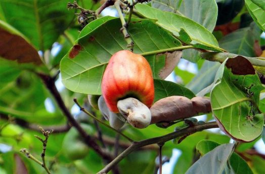
[[[60,64],[66,88],[78,93],[101,94],[101,79],[110,57],[117,51],[126,50],[120,26],[118,18],[103,17],[84,27],[75,46]],[[181,47],[179,40],[148,19],[132,19],[128,32],[134,40],[134,53],[137,54]],[[160,68],[157,66],[161,62],[154,61],[152,55],[147,56],[147,60],[154,73],[158,73]]]

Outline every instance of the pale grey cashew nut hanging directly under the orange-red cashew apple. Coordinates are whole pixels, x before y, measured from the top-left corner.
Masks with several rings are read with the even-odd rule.
[[[145,128],[150,125],[151,112],[149,108],[135,98],[119,100],[117,107],[128,123],[136,128]]]

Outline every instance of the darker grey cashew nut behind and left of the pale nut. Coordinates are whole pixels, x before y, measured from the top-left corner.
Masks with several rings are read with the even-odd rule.
[[[98,105],[99,110],[101,111],[104,118],[109,121],[111,127],[120,129],[124,125],[125,119],[109,110],[103,96],[100,96]]]

